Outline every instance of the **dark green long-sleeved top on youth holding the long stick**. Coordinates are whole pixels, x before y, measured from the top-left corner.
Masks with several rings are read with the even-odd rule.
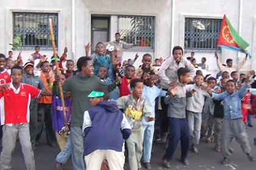
[[[69,77],[63,83],[63,94],[71,92],[71,126],[83,125],[84,112],[90,107],[90,98],[88,95],[97,88],[105,87],[108,91],[115,89],[116,84],[105,84],[98,77],[83,77],[78,73],[73,77]]]

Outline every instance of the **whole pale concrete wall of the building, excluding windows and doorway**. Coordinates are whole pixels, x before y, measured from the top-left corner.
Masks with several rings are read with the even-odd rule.
[[[172,0],[119,0],[119,1],[93,1],[93,0],[75,0],[75,20],[74,30],[72,30],[72,1],[73,0],[57,0],[57,1],[1,1],[0,6],[0,52],[7,54],[12,42],[12,12],[57,12],[59,13],[59,46],[58,53],[62,54],[65,46],[68,47],[68,58],[77,59],[85,55],[85,44],[91,39],[91,16],[92,15],[108,15],[110,16],[110,40],[114,39],[117,30],[117,15],[152,15],[155,16],[155,49],[150,52],[154,58],[166,58],[171,55],[171,12]],[[200,18],[222,18],[224,13],[229,17],[233,27],[238,30],[240,0],[234,1],[177,1],[175,0],[174,15],[174,46],[183,47],[185,17]],[[256,69],[256,13],[254,7],[256,1],[243,1],[243,25],[242,36],[250,44],[248,50],[252,53],[253,58],[249,60],[243,67],[245,69]],[[66,27],[65,27],[66,25]],[[74,44],[72,44],[72,31],[74,32]],[[72,53],[71,47],[74,46]],[[24,50],[23,58],[27,58],[34,49]],[[218,72],[214,52],[195,51],[196,59],[199,63],[202,56],[207,58],[207,64],[211,72]],[[15,56],[18,52],[14,52]],[[41,50],[41,54],[49,57],[52,55],[51,50]],[[125,52],[124,60],[133,58],[137,51]],[[146,52],[138,51],[142,56]],[[190,52],[188,52],[190,55]],[[238,53],[230,50],[222,49],[219,54],[222,63],[227,58],[232,58],[234,63],[243,59],[242,54],[239,60]],[[135,63],[135,66],[141,64],[141,58]]]

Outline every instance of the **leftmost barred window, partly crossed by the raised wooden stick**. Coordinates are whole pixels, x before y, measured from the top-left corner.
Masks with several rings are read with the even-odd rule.
[[[13,12],[13,38],[21,36],[22,47],[24,48],[52,47],[49,18],[52,19],[55,43],[58,46],[57,13]]]

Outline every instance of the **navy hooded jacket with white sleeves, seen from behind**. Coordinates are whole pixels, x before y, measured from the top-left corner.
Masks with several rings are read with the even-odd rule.
[[[115,101],[101,101],[84,113],[84,155],[98,149],[122,152],[132,133],[130,124]]]

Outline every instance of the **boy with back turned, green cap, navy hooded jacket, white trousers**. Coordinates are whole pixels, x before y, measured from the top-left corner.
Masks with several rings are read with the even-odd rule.
[[[130,124],[107,90],[93,91],[91,107],[84,112],[84,155],[87,169],[100,169],[104,159],[110,169],[124,168],[124,140],[132,133]]]

